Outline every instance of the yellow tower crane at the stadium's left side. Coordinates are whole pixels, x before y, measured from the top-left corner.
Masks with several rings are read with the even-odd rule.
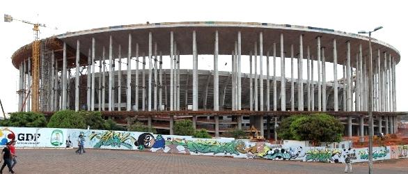
[[[31,111],[33,112],[38,112],[39,111],[39,95],[40,95],[40,90],[39,90],[39,84],[40,84],[40,40],[39,40],[39,33],[40,33],[40,26],[42,27],[47,27],[45,24],[40,24],[40,23],[33,23],[29,22],[26,20],[22,19],[15,19],[11,15],[6,15],[4,14],[4,22],[13,22],[13,20],[23,22],[26,24],[31,24],[33,25],[33,31],[34,31],[34,41],[31,43],[32,49],[33,49],[33,63],[31,67],[31,72],[32,72],[32,84],[31,84],[31,93],[32,93],[32,102],[31,102]]]

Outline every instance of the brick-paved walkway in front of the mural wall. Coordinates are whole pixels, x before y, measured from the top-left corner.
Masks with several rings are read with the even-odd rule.
[[[126,150],[17,149],[17,173],[344,173],[344,164],[203,157]],[[354,173],[368,173],[367,163]],[[408,159],[376,162],[375,173],[408,173]],[[8,173],[6,167],[3,173]]]

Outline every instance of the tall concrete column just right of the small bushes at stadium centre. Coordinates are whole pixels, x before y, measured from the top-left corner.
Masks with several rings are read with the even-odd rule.
[[[214,41],[214,111],[219,111],[219,72],[218,72],[218,31]],[[219,116],[214,116],[215,136],[219,136]]]

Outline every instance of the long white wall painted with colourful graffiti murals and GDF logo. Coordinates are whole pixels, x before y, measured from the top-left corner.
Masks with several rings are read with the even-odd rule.
[[[230,138],[195,139],[191,136],[122,132],[92,129],[52,129],[0,127],[0,145],[16,140],[17,148],[77,148],[79,135],[84,136],[84,148],[143,150],[189,155],[228,156],[246,159],[298,160],[344,163],[350,155],[352,162],[368,161],[368,148],[304,147],[288,143],[276,145]],[[373,148],[373,159],[408,157],[408,145]]]

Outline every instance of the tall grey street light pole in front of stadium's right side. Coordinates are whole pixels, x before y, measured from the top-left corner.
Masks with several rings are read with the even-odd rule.
[[[370,59],[368,60],[368,121],[370,125],[368,127],[370,136],[368,143],[368,173],[372,173],[372,136],[374,134],[374,126],[372,125],[372,50],[371,50],[371,33],[382,29],[382,26],[378,26],[373,31],[359,31],[359,34],[368,33],[368,45],[370,47]]]

